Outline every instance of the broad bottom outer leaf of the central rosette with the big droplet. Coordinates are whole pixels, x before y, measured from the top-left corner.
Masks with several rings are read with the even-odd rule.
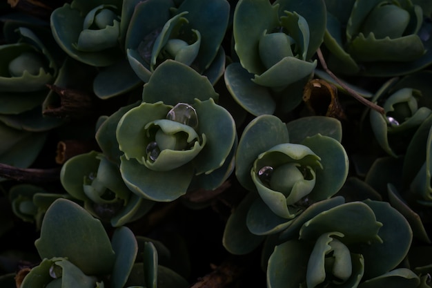
[[[132,192],[148,200],[169,202],[184,195],[193,178],[193,166],[170,171],[153,171],[135,159],[121,156],[120,172]]]

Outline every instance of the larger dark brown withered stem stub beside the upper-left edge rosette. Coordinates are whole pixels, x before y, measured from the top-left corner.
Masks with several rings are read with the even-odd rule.
[[[60,97],[59,106],[51,104],[43,111],[43,115],[59,118],[84,118],[93,114],[94,97],[81,90],[61,88],[47,84],[48,88]]]

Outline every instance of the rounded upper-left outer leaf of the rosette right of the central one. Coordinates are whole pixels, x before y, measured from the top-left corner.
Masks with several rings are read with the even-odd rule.
[[[251,178],[253,162],[258,155],[281,143],[288,143],[286,125],[277,117],[262,115],[244,128],[235,157],[235,175],[249,191],[256,191]]]

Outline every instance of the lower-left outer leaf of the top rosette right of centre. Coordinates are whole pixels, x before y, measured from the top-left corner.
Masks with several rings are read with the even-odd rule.
[[[248,73],[239,63],[228,65],[224,79],[226,88],[235,101],[252,115],[273,114],[276,102],[268,88],[252,81],[253,74]]]

